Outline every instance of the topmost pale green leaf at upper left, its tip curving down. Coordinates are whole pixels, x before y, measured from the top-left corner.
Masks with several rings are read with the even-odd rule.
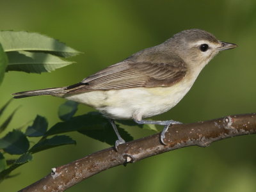
[[[81,53],[49,36],[28,31],[0,31],[4,51],[40,51],[69,57]]]

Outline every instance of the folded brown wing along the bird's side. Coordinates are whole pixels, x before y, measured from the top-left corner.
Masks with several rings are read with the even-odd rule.
[[[164,62],[125,60],[67,87],[67,93],[172,86],[183,79],[187,70],[186,63],[177,58]]]

